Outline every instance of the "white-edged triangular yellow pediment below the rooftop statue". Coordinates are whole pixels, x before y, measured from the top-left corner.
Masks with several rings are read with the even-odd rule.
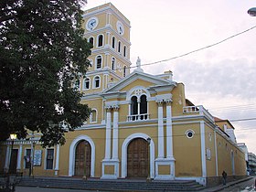
[[[151,75],[144,72],[133,71],[129,76],[124,78],[123,80],[118,81],[116,84],[112,85],[109,89],[104,91],[104,93],[108,92],[118,92],[118,91],[127,91],[125,88],[131,87],[131,85],[135,86],[135,84],[140,83],[141,86],[144,87],[161,87],[161,86],[170,86],[176,84],[176,82],[172,80],[164,80],[155,75]]]

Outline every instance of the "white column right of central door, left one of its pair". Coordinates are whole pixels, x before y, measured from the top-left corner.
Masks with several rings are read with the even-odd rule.
[[[164,118],[163,101],[157,101],[158,104],[158,158],[164,158]]]

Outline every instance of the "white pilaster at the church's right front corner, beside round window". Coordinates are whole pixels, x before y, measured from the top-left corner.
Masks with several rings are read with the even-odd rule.
[[[200,122],[202,176],[207,176],[205,123]]]

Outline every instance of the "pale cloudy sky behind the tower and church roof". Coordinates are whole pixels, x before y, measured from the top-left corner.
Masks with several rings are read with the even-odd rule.
[[[142,68],[172,70],[187,99],[229,119],[237,142],[256,154],[256,16],[247,14],[256,1],[88,0],[85,9],[109,2],[131,22],[132,66],[137,57],[142,65],[169,59]]]

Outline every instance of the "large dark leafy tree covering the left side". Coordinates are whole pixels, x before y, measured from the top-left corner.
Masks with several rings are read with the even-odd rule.
[[[90,115],[73,83],[84,76],[91,44],[83,38],[85,0],[0,1],[0,139],[27,130],[43,146],[65,143],[65,132]]]

